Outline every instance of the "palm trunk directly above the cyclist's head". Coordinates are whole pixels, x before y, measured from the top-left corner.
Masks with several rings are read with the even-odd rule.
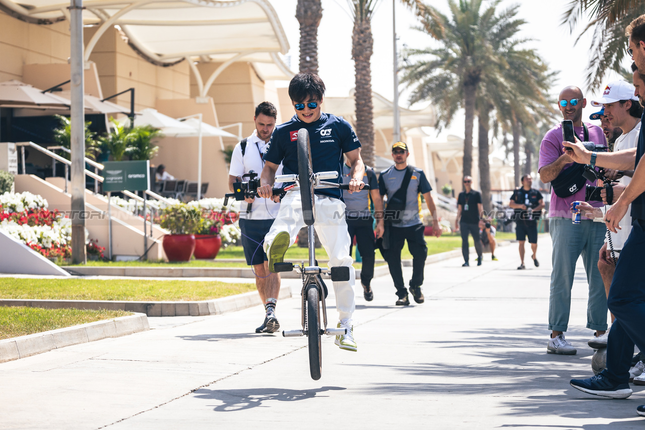
[[[318,74],[318,25],[323,17],[321,0],[298,0],[295,17],[300,24],[300,72]]]

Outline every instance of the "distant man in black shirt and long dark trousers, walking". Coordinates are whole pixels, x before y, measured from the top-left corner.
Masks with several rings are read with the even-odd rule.
[[[479,218],[484,207],[482,195],[472,189],[473,178],[464,176],[464,189],[457,198],[457,220],[455,230],[461,230],[461,253],[464,256],[462,267],[468,267],[469,250],[468,234],[473,236],[475,251],[477,251],[477,265],[482,265],[482,241],[479,236]]]

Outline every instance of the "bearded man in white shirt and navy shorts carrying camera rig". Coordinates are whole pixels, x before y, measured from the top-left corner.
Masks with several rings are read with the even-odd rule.
[[[233,190],[233,183],[242,182],[242,176],[251,170],[259,174],[264,167],[262,159],[273,128],[277,110],[272,103],[264,101],[255,108],[255,130],[253,134],[237,143],[231,157],[231,167],[228,172],[228,187]],[[259,178],[257,178],[259,179]],[[259,185],[259,181],[257,185]],[[249,207],[250,206],[250,207]],[[275,316],[275,305],[280,292],[280,275],[271,273],[268,269],[268,259],[262,249],[264,236],[273,225],[273,220],[280,209],[280,203],[261,197],[246,197],[240,210],[240,230],[242,231],[242,247],[246,264],[253,266],[255,286],[260,294],[266,315],[264,323],[255,329],[255,333],[275,333],[280,329],[280,323]]]

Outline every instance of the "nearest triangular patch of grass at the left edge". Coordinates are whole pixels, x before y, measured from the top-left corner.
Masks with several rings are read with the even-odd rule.
[[[126,315],[132,315],[132,312],[2,306],[0,307],[0,339],[111,320]]]

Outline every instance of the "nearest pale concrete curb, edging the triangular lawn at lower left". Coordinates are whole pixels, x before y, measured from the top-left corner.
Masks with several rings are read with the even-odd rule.
[[[0,363],[18,360],[35,354],[46,353],[78,343],[87,343],[105,338],[117,338],[140,331],[150,330],[148,317],[141,313],[121,316],[64,329],[28,334],[17,338],[0,340]]]

